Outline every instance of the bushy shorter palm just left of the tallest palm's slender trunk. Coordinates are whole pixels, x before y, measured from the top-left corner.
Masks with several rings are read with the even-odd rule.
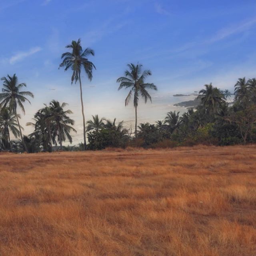
[[[53,139],[57,137],[57,140],[60,144],[60,149],[62,150],[62,142],[66,140],[66,138],[69,140],[70,143],[72,143],[72,137],[70,136],[70,131],[76,132],[76,130],[72,127],[74,125],[75,121],[71,118],[69,118],[68,114],[73,114],[71,110],[64,110],[63,108],[67,106],[68,104],[63,102],[60,104],[60,102],[56,100],[52,100],[50,102],[50,110],[52,112],[51,116],[48,118],[49,121],[52,121],[52,126],[54,129],[53,133]]]

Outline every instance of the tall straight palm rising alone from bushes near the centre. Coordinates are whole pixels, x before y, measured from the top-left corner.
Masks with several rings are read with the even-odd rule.
[[[145,79],[148,76],[151,76],[150,70],[142,71],[141,64],[128,64],[128,70],[124,72],[125,76],[121,76],[116,80],[120,83],[118,90],[125,88],[130,89],[128,96],[125,99],[125,106],[127,106],[129,100],[134,94],[133,105],[135,107],[135,137],[137,137],[137,107],[139,102],[139,97],[144,98],[145,103],[149,99],[152,102],[151,96],[148,93],[147,89],[157,90],[157,87],[154,84],[145,83]]]

